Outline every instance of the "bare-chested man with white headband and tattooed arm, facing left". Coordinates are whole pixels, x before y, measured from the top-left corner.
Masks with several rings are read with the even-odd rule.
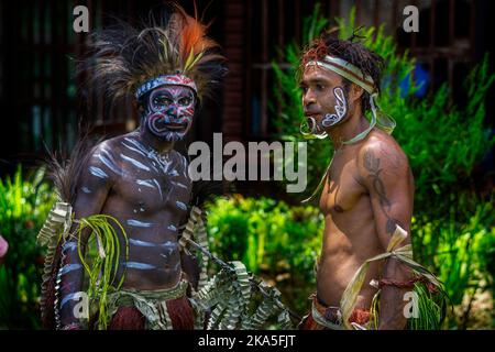
[[[394,250],[410,243],[413,174],[389,135],[393,120],[376,106],[383,59],[352,40],[323,34],[309,45],[301,62],[307,119],[301,132],[329,136],[334,155],[319,200],[324,232],[317,293],[300,328],[404,329],[410,272],[395,257],[384,266],[365,263],[387,252],[392,239],[400,239]],[[370,309],[378,286],[380,319],[373,327]]]

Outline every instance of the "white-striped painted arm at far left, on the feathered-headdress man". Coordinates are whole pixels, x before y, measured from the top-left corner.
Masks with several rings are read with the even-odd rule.
[[[85,165],[77,184],[76,201],[73,205],[76,220],[100,213],[111,187],[110,176],[109,169],[94,154]],[[78,254],[78,246],[80,243],[80,252],[84,255],[90,230],[86,229],[81,232],[79,242],[75,232],[77,227],[78,223],[73,224],[70,238],[62,248],[58,309],[63,329],[81,328],[81,317],[79,317],[76,306],[80,301],[85,271]]]

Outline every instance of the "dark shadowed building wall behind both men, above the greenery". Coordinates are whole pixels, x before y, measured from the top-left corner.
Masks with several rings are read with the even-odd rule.
[[[85,53],[85,34],[73,31],[73,9],[90,10],[90,31],[112,23],[113,16],[136,22],[146,19],[164,1],[157,0],[26,0],[0,2],[0,175],[21,162],[35,165],[46,148],[66,155],[74,145],[79,121],[97,135],[133,129],[132,109],[106,111],[105,101],[81,101],[77,95],[75,59]],[[178,1],[189,13],[193,0]],[[211,143],[213,132],[224,141],[270,139],[274,75],[270,63],[283,63],[278,47],[299,41],[302,18],[319,2],[329,16],[346,16],[356,7],[358,24],[384,24],[402,50],[418,58],[428,77],[428,89],[448,82],[451,101],[465,103],[462,79],[486,52],[493,53],[494,1],[490,0],[197,0],[210,35],[220,42],[229,59],[230,75],[216,101],[206,101],[189,140]],[[403,9],[420,9],[419,33],[402,29]],[[492,69],[494,58],[491,57]],[[492,88],[492,97],[493,97]],[[91,103],[90,103],[91,102]],[[494,99],[487,102],[493,127]],[[89,110],[88,106],[95,107]],[[469,119],[469,117],[466,117]],[[46,145],[46,148],[45,146]],[[183,145],[185,147],[185,145]],[[493,162],[492,162],[493,163]]]

